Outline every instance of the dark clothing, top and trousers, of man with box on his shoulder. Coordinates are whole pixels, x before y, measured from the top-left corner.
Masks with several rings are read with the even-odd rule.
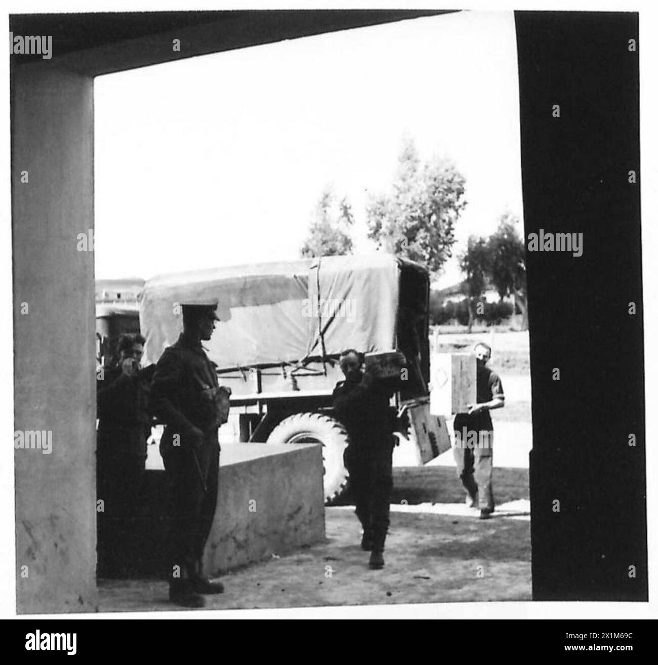
[[[339,381],[333,391],[333,410],[349,435],[344,461],[355,512],[363,526],[364,541],[376,551],[384,549],[393,492],[392,394],[391,388],[369,376]]]

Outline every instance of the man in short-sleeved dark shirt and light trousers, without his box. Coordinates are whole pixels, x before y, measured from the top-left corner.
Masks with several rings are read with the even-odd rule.
[[[466,505],[480,508],[480,519],[494,512],[492,489],[494,426],[490,410],[505,406],[500,376],[486,366],[491,347],[484,342],[475,346],[477,362],[476,404],[468,404],[468,413],[454,417],[454,459],[457,475],[468,496]]]

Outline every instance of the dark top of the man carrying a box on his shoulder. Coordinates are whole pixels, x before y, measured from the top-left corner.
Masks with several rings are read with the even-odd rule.
[[[333,391],[333,410],[347,429],[351,444],[359,448],[383,446],[393,437],[395,409],[391,408],[392,390],[373,380],[364,386],[361,380],[339,381]]]

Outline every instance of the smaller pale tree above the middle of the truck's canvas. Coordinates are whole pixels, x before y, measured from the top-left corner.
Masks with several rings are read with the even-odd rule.
[[[352,239],[347,229],[354,223],[347,197],[337,200],[331,188],[322,192],[313,211],[309,235],[301,247],[304,258],[352,253]]]

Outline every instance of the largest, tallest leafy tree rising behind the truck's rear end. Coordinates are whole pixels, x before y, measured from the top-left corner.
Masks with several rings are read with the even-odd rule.
[[[454,225],[466,206],[465,182],[449,160],[423,164],[414,143],[406,142],[391,193],[367,206],[368,237],[385,251],[438,272],[452,256]]]

